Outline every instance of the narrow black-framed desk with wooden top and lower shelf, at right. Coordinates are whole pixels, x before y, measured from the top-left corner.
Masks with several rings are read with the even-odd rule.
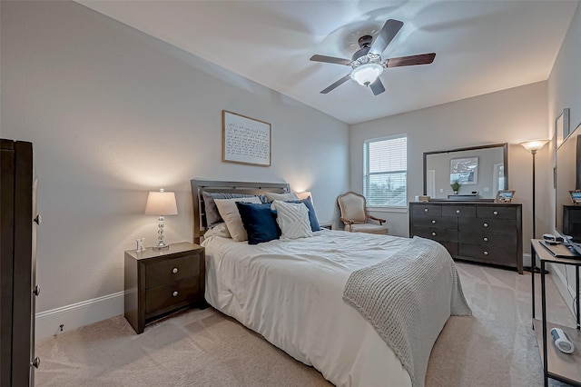
[[[543,377],[545,386],[548,385],[548,378],[560,382],[566,382],[575,386],[581,386],[581,325],[579,319],[579,297],[576,297],[576,329],[547,322],[547,297],[546,297],[546,280],[547,263],[561,263],[575,266],[576,273],[576,294],[579,294],[579,266],[581,259],[558,258],[553,256],[545,246],[542,240],[531,239],[531,286],[532,286],[532,307],[533,307],[533,329],[537,332],[538,351],[540,352],[541,361],[543,362]],[[534,267],[537,258],[541,264],[541,319],[535,318],[535,274]],[[547,340],[551,342],[550,330],[561,328],[569,340],[575,345],[575,352],[566,354],[556,349],[555,345],[547,345]]]

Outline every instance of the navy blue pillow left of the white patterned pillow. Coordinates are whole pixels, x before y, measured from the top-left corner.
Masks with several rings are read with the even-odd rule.
[[[276,214],[270,203],[236,202],[242,224],[248,233],[248,244],[258,244],[279,239],[281,229],[276,223]]]

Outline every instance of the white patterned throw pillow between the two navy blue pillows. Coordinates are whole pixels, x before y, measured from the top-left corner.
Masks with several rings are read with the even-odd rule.
[[[281,227],[281,239],[307,238],[313,235],[306,205],[275,200],[272,206],[277,213],[276,222]]]

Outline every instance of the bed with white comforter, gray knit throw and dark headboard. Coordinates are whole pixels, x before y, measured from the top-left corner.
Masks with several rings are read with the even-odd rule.
[[[289,185],[192,180],[205,299],[335,385],[423,386],[448,317],[471,313],[454,263],[438,243],[330,230],[236,242],[220,227],[208,230],[203,192],[289,193]],[[371,288],[376,282],[387,295]],[[423,293],[411,292],[412,282]],[[372,296],[360,295],[365,287]],[[395,293],[402,300],[385,298]]]

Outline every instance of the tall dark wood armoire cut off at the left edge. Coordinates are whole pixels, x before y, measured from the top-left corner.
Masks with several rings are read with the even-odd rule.
[[[33,145],[0,139],[0,386],[34,385],[36,178]]]

